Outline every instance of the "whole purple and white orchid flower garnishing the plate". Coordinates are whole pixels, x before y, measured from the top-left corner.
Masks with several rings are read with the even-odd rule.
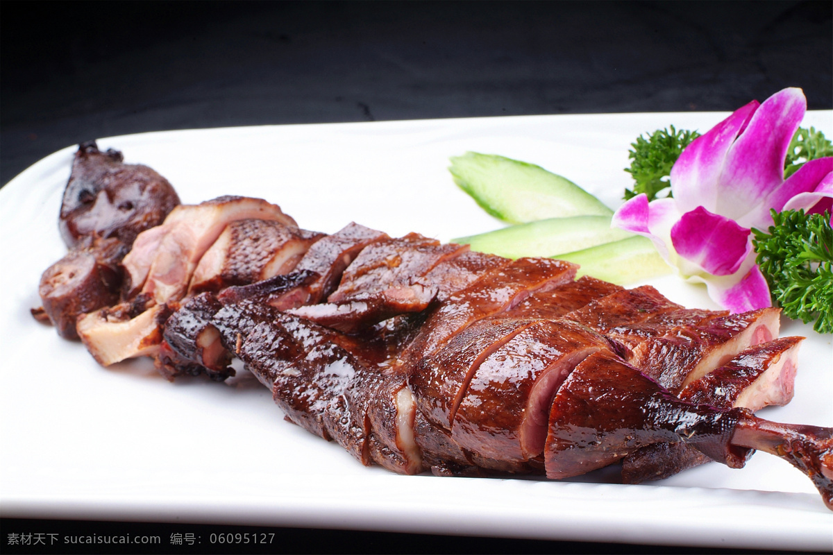
[[[771,306],[755,264],[751,228],[766,230],[776,211],[829,209],[833,157],[806,162],[784,179],[792,136],[806,111],[801,89],[750,102],[686,147],[671,168],[670,198],[635,196],[613,225],[653,240],[660,255],[732,312]]]

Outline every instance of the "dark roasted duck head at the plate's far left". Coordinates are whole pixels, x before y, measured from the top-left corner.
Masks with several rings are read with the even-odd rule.
[[[125,164],[121,152],[102,152],[96,141],[88,141],[78,145],[72,161],[58,226],[71,249],[92,236],[116,238],[129,247],[177,205],[177,191],[156,171]]]

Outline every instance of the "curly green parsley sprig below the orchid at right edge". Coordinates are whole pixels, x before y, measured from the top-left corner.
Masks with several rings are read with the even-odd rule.
[[[752,230],[756,262],[784,315],[833,333],[833,230],[830,212],[772,212],[769,232]]]

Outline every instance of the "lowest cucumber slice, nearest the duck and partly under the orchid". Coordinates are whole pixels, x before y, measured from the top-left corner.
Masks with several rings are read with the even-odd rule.
[[[641,235],[576,250],[557,258],[581,265],[576,277],[591,275],[616,285],[650,280],[672,271],[651,240]]]

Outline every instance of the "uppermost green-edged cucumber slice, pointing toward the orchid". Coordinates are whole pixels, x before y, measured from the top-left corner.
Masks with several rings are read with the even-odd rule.
[[[503,221],[566,216],[611,216],[595,196],[541,166],[503,156],[466,152],[451,158],[451,176],[483,210]]]

